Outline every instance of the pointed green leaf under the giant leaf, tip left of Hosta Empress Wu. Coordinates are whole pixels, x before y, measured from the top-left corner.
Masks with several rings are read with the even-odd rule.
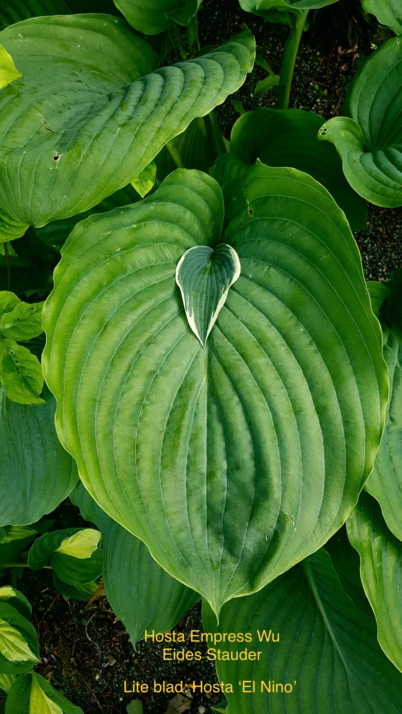
[[[162,570],[146,545],[112,521],[81,483],[71,493],[71,501],[102,533],[106,597],[134,647],[144,639],[145,630],[164,633],[174,628],[199,595]]]

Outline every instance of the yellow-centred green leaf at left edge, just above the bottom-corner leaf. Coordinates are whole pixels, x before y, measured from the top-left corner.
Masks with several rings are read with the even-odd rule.
[[[16,675],[37,663],[39,642],[31,623],[12,605],[0,602],[0,672]]]

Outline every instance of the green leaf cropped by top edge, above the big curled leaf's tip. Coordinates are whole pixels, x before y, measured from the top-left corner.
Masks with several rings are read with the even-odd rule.
[[[129,23],[146,35],[156,35],[175,22],[188,25],[202,0],[115,0]]]

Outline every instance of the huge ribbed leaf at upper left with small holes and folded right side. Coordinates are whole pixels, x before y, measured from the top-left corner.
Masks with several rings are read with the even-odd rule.
[[[157,66],[149,44],[104,15],[26,20],[1,32],[0,44],[23,74],[0,93],[0,206],[34,226],[126,186],[243,84],[255,53],[245,30],[149,74]]]

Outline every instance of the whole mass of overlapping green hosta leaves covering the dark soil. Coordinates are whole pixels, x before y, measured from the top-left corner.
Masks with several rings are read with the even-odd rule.
[[[297,687],[217,711],[401,710],[402,268],[366,283],[351,229],[402,204],[402,16],[363,1],[396,37],[323,124],[288,103],[308,11],[335,1],[241,0],[289,36],[280,76],[257,60],[277,109],[230,144],[213,109],[255,41],[204,51],[199,0],[0,9],[6,714],[81,713],[34,672],[23,568],[106,593],[134,647],[201,598],[210,633],[274,623],[218,677]],[[94,528],[44,518],[69,495]]]

